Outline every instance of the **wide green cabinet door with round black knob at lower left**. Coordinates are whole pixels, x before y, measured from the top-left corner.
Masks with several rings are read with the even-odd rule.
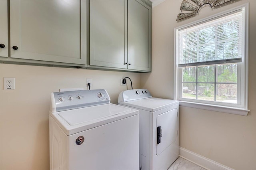
[[[10,0],[11,57],[85,64],[85,11],[85,0]]]

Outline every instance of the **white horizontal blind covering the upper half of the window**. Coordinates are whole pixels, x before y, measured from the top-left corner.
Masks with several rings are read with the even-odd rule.
[[[242,10],[178,30],[178,67],[242,62]]]

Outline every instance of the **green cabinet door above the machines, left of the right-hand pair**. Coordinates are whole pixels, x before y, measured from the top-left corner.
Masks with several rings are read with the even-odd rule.
[[[127,68],[126,35],[127,0],[90,0],[90,65]]]

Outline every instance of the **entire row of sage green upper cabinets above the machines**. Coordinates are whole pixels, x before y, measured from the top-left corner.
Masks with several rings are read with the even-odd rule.
[[[0,0],[0,63],[150,72],[151,9],[149,0]]]

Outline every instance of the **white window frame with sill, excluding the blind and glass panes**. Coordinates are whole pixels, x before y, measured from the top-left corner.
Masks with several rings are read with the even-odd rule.
[[[235,11],[242,10],[243,24],[244,24],[244,49],[242,49],[242,62],[237,63],[237,89],[238,90],[237,104],[233,103],[224,103],[224,102],[212,102],[212,101],[203,101],[198,99],[186,99],[182,98],[182,68],[178,67],[178,31],[184,30],[185,28],[189,28],[192,26],[196,26],[198,24],[202,24],[204,22],[214,20],[220,18],[222,16],[226,16],[228,14],[234,13]],[[249,15],[249,3],[243,4],[241,6],[237,6],[230,10],[226,10],[224,12],[215,14],[213,16],[203,18],[202,20],[198,20],[196,22],[192,22],[178,28],[174,28],[174,99],[180,101],[180,106],[193,107],[198,109],[205,109],[210,111],[218,111],[223,113],[231,113],[236,115],[248,115],[248,15]],[[231,63],[230,63],[231,64]],[[217,64],[219,65],[219,64]],[[189,66],[188,66],[189,67]],[[216,73],[215,73],[216,74]],[[243,76],[244,75],[244,76]],[[215,75],[216,76],[216,75]]]

